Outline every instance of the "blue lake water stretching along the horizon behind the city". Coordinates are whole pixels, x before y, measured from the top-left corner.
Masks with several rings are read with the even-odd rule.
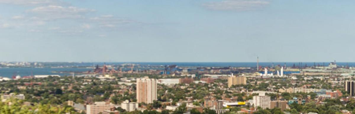
[[[178,65],[178,66],[187,66],[187,67],[256,67],[256,62],[97,62],[97,63],[51,63],[51,64],[46,64],[47,66],[61,66],[61,65],[69,65],[69,66],[93,66],[93,65],[119,65],[119,64],[140,64],[140,65]],[[284,65],[285,62],[260,62],[260,66],[267,66],[271,67],[272,64],[274,65]],[[300,63],[299,62],[286,62],[286,66],[290,67],[293,66],[298,66]],[[303,62],[302,65],[300,66],[313,66],[313,64],[316,65],[323,65],[323,62]],[[324,62],[324,64],[327,66],[329,62]],[[340,66],[346,66],[348,64],[349,67],[355,66],[354,62],[337,62],[337,65]],[[135,68],[136,69],[136,68]],[[65,73],[53,73],[53,71],[69,71],[69,72],[83,72],[83,71],[88,71],[92,69],[88,68],[0,68],[0,76],[3,77],[11,77],[12,75],[20,75],[20,76],[29,76],[29,75],[70,75],[70,74],[65,74]]]

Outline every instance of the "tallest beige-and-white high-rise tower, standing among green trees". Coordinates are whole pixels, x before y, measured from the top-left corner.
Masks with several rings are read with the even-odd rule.
[[[153,100],[157,100],[157,80],[148,76],[137,78],[137,103],[153,103]]]

